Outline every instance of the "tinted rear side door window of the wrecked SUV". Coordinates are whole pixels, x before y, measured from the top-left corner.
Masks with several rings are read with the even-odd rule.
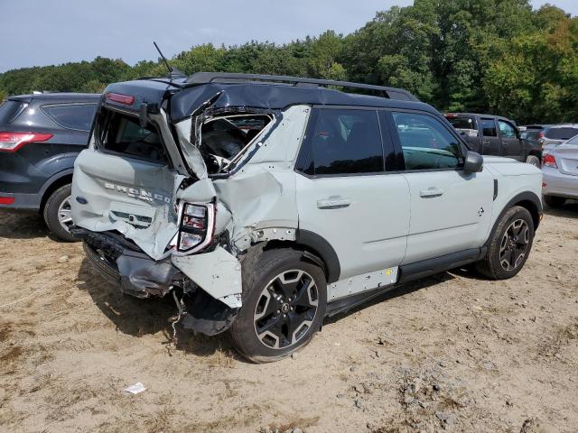
[[[309,175],[348,175],[384,170],[378,112],[315,108],[298,161]]]

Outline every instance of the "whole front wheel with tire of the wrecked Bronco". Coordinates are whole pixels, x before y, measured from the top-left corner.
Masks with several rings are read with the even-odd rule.
[[[499,219],[486,257],[476,264],[491,280],[506,280],[520,272],[534,242],[534,221],[526,207],[514,206]]]

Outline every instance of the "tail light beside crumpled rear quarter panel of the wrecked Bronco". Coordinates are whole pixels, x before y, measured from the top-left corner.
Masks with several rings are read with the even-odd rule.
[[[182,205],[177,249],[183,253],[196,253],[207,247],[215,232],[215,205],[209,203]]]

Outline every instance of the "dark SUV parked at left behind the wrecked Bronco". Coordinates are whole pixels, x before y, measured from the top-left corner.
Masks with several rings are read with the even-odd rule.
[[[0,105],[0,208],[40,211],[52,234],[68,228],[74,160],[87,147],[100,95],[9,97]]]

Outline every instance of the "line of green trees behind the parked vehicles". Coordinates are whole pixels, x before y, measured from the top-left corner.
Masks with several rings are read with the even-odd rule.
[[[406,88],[442,111],[505,115],[520,124],[578,122],[578,18],[529,0],[415,0],[378,12],[356,32],[286,44],[202,44],[172,66],[197,71],[346,79]],[[0,98],[34,90],[101,92],[159,77],[162,61],[98,57],[0,74]]]

